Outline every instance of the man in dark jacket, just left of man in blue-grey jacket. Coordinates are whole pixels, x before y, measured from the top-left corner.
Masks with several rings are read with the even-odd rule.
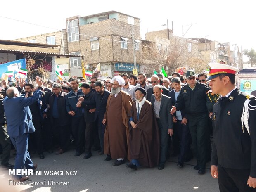
[[[59,142],[59,151],[57,155],[66,152],[69,147],[69,135],[71,126],[71,117],[66,111],[66,92],[62,91],[60,83],[52,84],[53,94],[49,97],[49,119],[52,125],[53,135]],[[45,114],[44,114],[45,116]],[[49,135],[50,136],[50,135]]]

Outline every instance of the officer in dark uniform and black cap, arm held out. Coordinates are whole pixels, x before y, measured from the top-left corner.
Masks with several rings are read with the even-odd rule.
[[[196,80],[193,70],[186,73],[187,85],[180,90],[175,105],[172,106],[171,114],[181,109],[185,110],[188,116],[189,129],[192,137],[192,151],[197,157],[197,165],[194,166],[199,174],[205,173],[207,157],[207,130],[208,110],[206,107],[206,97],[210,89],[204,83]]]

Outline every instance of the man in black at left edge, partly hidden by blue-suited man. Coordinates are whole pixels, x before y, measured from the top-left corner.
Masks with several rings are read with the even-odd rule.
[[[14,165],[9,164],[10,152],[11,152],[11,140],[5,128],[6,117],[5,117],[2,94],[5,94],[5,91],[0,92],[0,144],[2,145],[1,166],[5,168],[14,168]]]

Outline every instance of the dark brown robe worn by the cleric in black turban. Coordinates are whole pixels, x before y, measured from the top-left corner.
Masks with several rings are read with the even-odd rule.
[[[151,107],[151,103],[145,100],[137,119],[136,102],[128,114],[133,117],[136,128],[129,127],[130,159],[137,159],[141,166],[154,167],[159,161],[159,128]]]

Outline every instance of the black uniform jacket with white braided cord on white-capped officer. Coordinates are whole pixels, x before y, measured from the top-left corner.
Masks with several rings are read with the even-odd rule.
[[[231,169],[251,169],[256,178],[256,110],[249,110],[249,132],[242,129],[244,102],[250,96],[250,104],[256,106],[253,95],[235,89],[220,106],[220,98],[213,106],[213,149],[211,165]],[[256,107],[254,107],[256,108]]]

